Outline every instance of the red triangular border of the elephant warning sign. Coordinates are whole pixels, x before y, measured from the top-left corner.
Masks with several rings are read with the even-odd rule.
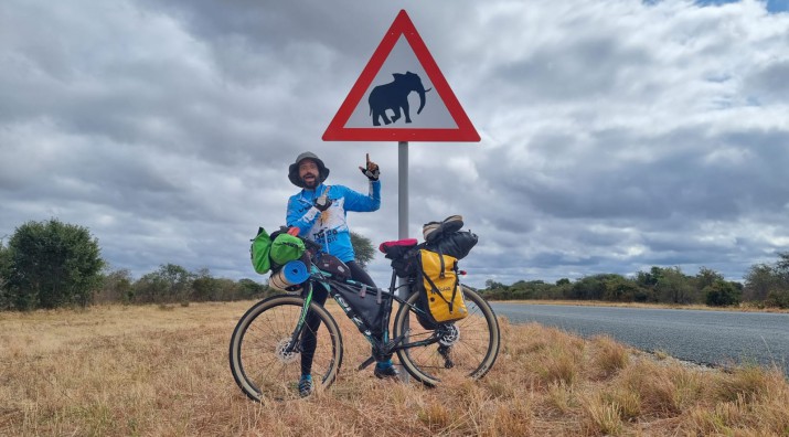
[[[353,110],[359,106],[364,97],[364,93],[370,88],[375,76],[381,71],[384,62],[392,53],[399,36],[404,35],[411,49],[416,54],[416,58],[427,73],[427,77],[433,83],[434,90],[440,95],[449,115],[458,126],[456,129],[433,129],[433,128],[346,128],[345,124],[351,118]],[[455,93],[444,78],[436,61],[427,50],[425,42],[416,31],[414,23],[408,18],[405,10],[401,10],[392,26],[384,35],[345,100],[340,106],[337,115],[323,132],[323,141],[469,141],[480,140],[477,129],[460,106]]]

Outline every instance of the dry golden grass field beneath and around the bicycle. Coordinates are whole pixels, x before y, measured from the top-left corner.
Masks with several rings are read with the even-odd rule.
[[[227,364],[253,302],[0,312],[1,436],[789,436],[777,370],[724,373],[501,320],[482,381],[427,390],[356,371],[344,318],[337,383],[257,404]]]

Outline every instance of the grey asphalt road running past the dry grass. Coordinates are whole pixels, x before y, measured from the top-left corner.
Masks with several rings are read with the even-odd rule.
[[[643,351],[701,364],[777,365],[789,376],[789,315],[491,302],[513,323],[582,337],[608,334]]]

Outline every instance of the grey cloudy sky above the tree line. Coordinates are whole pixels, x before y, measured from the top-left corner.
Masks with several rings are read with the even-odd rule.
[[[370,152],[383,205],[349,223],[396,239],[397,145],[321,136],[401,9],[481,136],[408,146],[409,233],[461,214],[470,285],[789,251],[788,0],[4,0],[0,237],[56,217],[135,278],[264,280],[310,150],[359,191]]]

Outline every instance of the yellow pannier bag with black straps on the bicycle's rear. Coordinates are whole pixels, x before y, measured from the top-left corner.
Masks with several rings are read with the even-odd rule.
[[[419,249],[420,290],[430,322],[446,323],[468,316],[458,280],[458,260],[428,249]],[[428,320],[429,320],[428,318]]]

